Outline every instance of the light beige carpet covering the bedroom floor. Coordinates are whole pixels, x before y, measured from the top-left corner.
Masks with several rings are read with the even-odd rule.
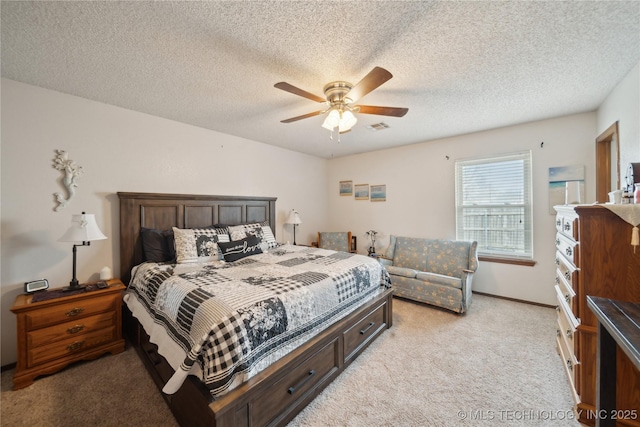
[[[297,426],[580,426],[555,349],[555,310],[474,295],[464,316],[394,299],[387,330]],[[135,351],[11,391],[2,426],[176,426]]]

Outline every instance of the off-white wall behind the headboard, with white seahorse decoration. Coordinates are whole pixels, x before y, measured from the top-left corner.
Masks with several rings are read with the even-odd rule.
[[[9,309],[24,282],[71,280],[72,245],[57,239],[73,213],[96,214],[108,236],[78,249],[78,279],[96,279],[103,266],[119,271],[117,191],[277,197],[275,232],[283,242],[293,240],[283,226],[289,209],[302,216],[299,242],[311,242],[328,216],[324,159],[7,79],[1,136],[2,365],[16,360]],[[84,170],[60,212],[52,196],[63,191],[52,167],[56,149]]]

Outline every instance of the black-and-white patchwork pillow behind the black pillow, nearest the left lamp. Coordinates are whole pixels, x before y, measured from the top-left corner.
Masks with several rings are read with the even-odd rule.
[[[229,235],[216,228],[173,227],[173,235],[178,263],[217,261],[218,242],[229,241]]]

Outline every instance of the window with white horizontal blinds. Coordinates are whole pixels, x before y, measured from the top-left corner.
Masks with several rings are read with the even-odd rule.
[[[478,254],[533,259],[531,152],[456,161],[456,238]]]

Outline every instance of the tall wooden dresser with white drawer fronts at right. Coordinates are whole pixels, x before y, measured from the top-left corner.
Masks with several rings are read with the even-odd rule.
[[[587,295],[640,303],[640,246],[632,226],[603,206],[556,206],[557,345],[572,387],[579,420],[594,425],[597,325]],[[617,404],[640,408],[640,372],[617,353]],[[623,413],[622,411],[620,412]],[[618,425],[640,427],[640,416]]]

